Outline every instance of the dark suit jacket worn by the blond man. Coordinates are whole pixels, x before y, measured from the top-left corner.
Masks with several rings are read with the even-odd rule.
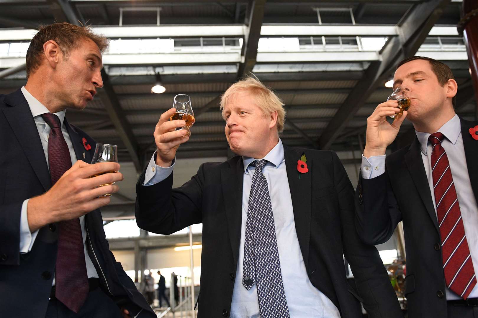
[[[297,161],[307,155],[309,172],[299,179]],[[354,225],[354,190],[337,154],[284,146],[295,229],[307,275],[339,309],[342,318],[403,317],[379,253],[363,244]],[[160,183],[136,185],[136,222],[159,234],[203,223],[198,317],[228,317],[237,270],[241,215],[242,158],[202,164],[183,186],[171,189],[173,174]],[[357,290],[348,285],[343,254]]]

